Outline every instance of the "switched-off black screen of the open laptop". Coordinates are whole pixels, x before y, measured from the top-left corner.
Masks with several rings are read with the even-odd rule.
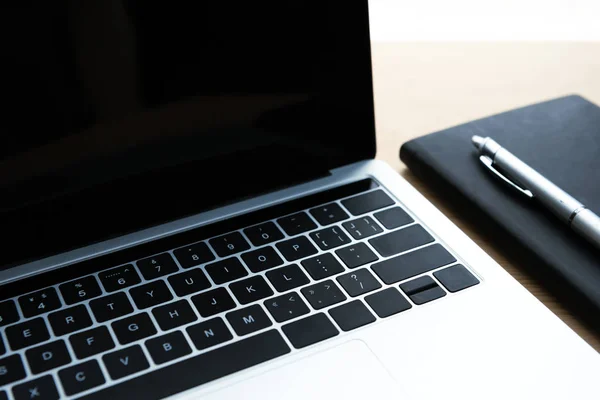
[[[366,0],[1,15],[0,269],[374,156]]]

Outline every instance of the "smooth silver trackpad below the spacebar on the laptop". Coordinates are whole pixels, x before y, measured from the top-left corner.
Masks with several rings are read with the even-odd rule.
[[[407,399],[381,362],[360,340],[284,365],[203,399]]]

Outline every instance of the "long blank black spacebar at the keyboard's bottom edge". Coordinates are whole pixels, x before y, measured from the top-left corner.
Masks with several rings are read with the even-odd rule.
[[[289,353],[281,334],[260,335],[188,358],[81,399],[162,399]]]

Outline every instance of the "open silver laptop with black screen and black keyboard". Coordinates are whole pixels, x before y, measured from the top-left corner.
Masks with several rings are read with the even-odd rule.
[[[598,398],[374,160],[367,6],[3,7],[0,399]]]

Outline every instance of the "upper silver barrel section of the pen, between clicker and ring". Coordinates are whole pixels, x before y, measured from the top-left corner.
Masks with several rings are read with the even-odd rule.
[[[569,224],[573,212],[584,208],[583,204],[504,148],[496,152],[494,164],[531,190],[534,197],[564,223]]]

